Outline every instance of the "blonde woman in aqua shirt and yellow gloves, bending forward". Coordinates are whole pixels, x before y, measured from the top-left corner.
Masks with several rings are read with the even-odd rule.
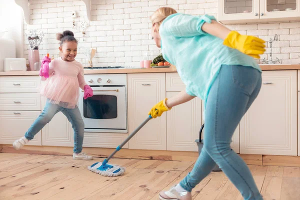
[[[150,19],[157,47],[176,66],[186,90],[160,101],[149,114],[155,118],[195,96],[205,107],[204,147],[192,171],[160,192],[160,199],[191,200],[192,188],[217,164],[244,199],[261,200],[249,168],[230,148],[230,141],[260,90],[261,69],[253,57],[264,52],[264,41],[230,31],[213,16],[180,14],[169,7],[157,9]]]

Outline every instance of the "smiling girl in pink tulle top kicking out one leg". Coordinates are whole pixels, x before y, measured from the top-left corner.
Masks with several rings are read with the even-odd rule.
[[[84,90],[84,99],[93,95],[92,89],[84,81],[83,66],[74,58],[77,54],[77,40],[73,32],[65,30],[56,34],[60,41],[59,51],[62,56],[53,59],[49,63],[50,77],[41,88],[41,95],[47,98],[46,105],[42,113],[33,122],[25,135],[13,142],[13,147],[18,150],[41,128],[48,123],[53,116],[61,111],[71,122],[74,130],[74,150],[73,159],[90,160],[92,156],[81,152],[84,123],[77,107],[79,97],[79,87]],[[42,77],[45,80],[46,78]]]

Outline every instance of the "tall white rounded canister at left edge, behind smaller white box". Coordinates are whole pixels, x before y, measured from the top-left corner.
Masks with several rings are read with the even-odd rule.
[[[15,58],[15,42],[12,39],[0,38],[0,71],[4,71],[4,58]]]

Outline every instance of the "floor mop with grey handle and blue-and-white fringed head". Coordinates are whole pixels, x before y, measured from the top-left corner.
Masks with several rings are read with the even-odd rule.
[[[115,165],[115,164],[107,164],[108,160],[117,152],[119,151],[123,145],[125,143],[127,143],[131,137],[133,137],[133,135],[135,135],[136,132],[138,132],[138,130],[140,128],[142,128],[142,126],[144,126],[150,119],[151,119],[151,115],[149,115],[135,130],[133,130],[133,132],[120,144],[118,145],[115,150],[107,157],[103,160],[103,162],[95,162],[92,165],[88,166],[88,170],[98,173],[100,175],[103,176],[118,176],[118,175],[122,175],[125,172],[125,168],[119,165]]]

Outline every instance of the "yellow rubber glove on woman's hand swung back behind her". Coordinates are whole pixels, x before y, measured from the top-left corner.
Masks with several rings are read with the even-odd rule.
[[[260,58],[259,54],[263,54],[265,51],[263,43],[265,43],[263,39],[250,35],[241,35],[236,31],[231,31],[223,41],[224,45],[255,58]]]

